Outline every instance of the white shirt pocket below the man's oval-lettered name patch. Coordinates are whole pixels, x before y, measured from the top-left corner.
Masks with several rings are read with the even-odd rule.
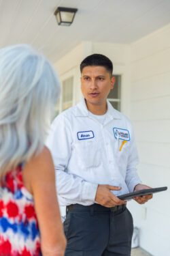
[[[99,167],[101,163],[101,149],[97,141],[80,141],[75,144],[78,162],[84,168]]]

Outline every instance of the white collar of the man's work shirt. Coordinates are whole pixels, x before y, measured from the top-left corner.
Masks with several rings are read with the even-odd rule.
[[[75,109],[75,116],[76,117],[88,117],[88,109],[86,106],[85,99],[83,98],[77,105]],[[121,119],[121,115],[110,102],[107,100],[107,116],[109,119]]]

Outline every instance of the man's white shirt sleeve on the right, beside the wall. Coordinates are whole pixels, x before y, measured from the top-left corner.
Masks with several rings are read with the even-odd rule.
[[[138,158],[137,147],[135,143],[135,134],[133,132],[133,128],[131,130],[132,130],[131,146],[129,149],[129,158],[128,158],[128,164],[126,167],[126,177],[125,177],[125,182],[129,188],[130,193],[133,192],[137,184],[141,184],[141,180],[139,178],[139,175],[137,174],[137,165],[139,163],[139,158]]]

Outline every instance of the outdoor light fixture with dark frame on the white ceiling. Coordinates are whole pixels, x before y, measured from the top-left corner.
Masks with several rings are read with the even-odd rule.
[[[58,7],[54,12],[58,25],[70,26],[78,9]]]

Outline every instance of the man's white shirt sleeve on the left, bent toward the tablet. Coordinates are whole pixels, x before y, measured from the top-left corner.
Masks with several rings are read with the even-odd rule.
[[[67,119],[59,115],[52,123],[46,141],[54,161],[58,196],[73,203],[90,205],[95,202],[98,185],[86,182],[80,176],[67,173],[67,165],[71,158],[71,144],[71,130]]]

